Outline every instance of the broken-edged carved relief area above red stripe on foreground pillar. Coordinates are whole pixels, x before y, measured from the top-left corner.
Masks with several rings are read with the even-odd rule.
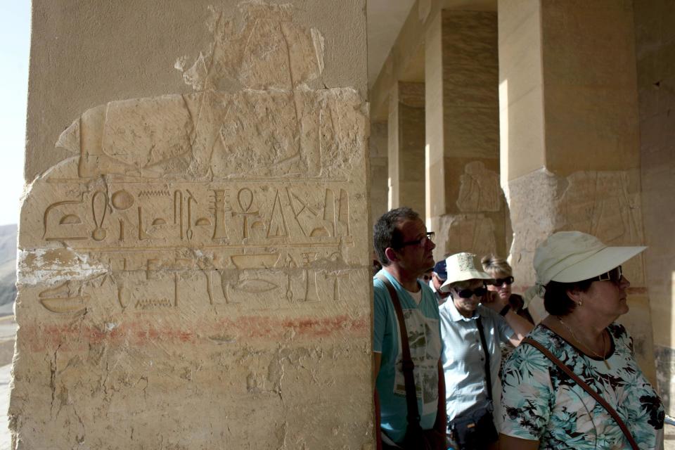
[[[354,89],[310,89],[323,37],[290,6],[240,10],[241,24],[212,11],[209,48],[176,63],[193,94],[110,101],[59,136],[75,156],[33,182],[22,212],[39,232],[23,233],[20,283],[44,286],[47,311],[82,314],[92,299],[255,308],[354,290],[366,104]],[[243,89],[219,90],[225,80]],[[56,246],[68,261],[35,257]]]

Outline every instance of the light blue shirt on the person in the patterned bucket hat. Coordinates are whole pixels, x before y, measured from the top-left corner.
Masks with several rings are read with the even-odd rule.
[[[485,352],[480,343],[476,323],[479,314],[490,355],[493,403],[499,405],[500,343],[508,342],[513,330],[499,313],[480,304],[473,317],[462,316],[450,297],[439,307],[439,314],[443,340],[441,362],[445,374],[448,420],[473,413],[489,404],[485,378]]]

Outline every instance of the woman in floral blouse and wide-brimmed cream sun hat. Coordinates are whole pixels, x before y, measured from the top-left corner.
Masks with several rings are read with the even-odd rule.
[[[550,315],[504,366],[502,450],[661,448],[662,401],[615,323],[629,309],[621,264],[643,250],[579,231],[536,248],[526,297],[543,297]]]

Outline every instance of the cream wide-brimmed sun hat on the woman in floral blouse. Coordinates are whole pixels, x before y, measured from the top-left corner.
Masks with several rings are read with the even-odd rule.
[[[646,247],[610,247],[581,231],[553,233],[534,252],[536,284],[525,293],[525,302],[538,295],[551,281],[574,283],[605,274],[631,259]]]

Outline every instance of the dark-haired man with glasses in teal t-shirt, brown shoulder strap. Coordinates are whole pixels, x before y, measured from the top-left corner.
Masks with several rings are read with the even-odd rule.
[[[427,448],[422,439],[432,442],[432,448],[446,449],[438,303],[429,286],[418,280],[434,266],[433,236],[408,207],[386,212],[373,227],[375,252],[383,265],[373,278],[373,377],[383,449]],[[412,371],[411,364],[404,364],[396,300]]]

